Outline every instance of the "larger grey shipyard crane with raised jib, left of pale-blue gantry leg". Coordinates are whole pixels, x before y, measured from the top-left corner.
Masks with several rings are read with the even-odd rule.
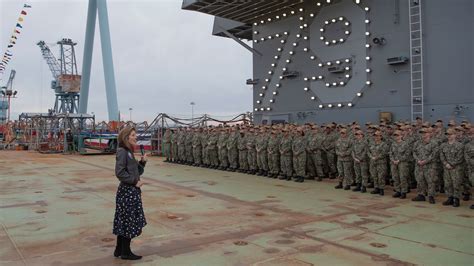
[[[63,38],[57,44],[60,47],[61,58],[59,60],[44,41],[37,43],[54,78],[51,81],[51,89],[56,94],[53,111],[54,113],[78,113],[81,76],[77,72],[74,51],[74,46],[77,43],[71,39]]]

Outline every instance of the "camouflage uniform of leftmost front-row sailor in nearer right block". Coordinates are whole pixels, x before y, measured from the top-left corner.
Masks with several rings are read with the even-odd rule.
[[[354,181],[351,152],[352,142],[349,137],[340,137],[336,140],[339,182],[345,187],[350,187]]]

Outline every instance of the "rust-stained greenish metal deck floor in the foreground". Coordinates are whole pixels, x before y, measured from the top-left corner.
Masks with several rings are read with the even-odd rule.
[[[112,256],[114,156],[0,152],[0,265]],[[163,163],[143,177],[141,265],[472,265],[474,211]]]

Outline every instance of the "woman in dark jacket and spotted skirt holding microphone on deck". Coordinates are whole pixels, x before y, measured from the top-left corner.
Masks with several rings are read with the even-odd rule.
[[[115,198],[115,218],[113,233],[117,235],[117,246],[114,256],[124,260],[139,260],[142,256],[132,253],[130,242],[132,238],[142,233],[146,225],[143,212],[141,189],[143,174],[147,161],[146,155],[137,162],[133,155],[137,144],[137,134],[134,128],[126,127],[118,136],[118,149],[115,162],[115,175],[120,180]]]

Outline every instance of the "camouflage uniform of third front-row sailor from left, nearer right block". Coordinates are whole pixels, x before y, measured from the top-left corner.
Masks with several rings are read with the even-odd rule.
[[[385,189],[388,151],[388,145],[383,140],[378,144],[374,141],[369,145],[368,155],[372,166],[372,169],[370,169],[370,175],[374,179],[374,188]]]

